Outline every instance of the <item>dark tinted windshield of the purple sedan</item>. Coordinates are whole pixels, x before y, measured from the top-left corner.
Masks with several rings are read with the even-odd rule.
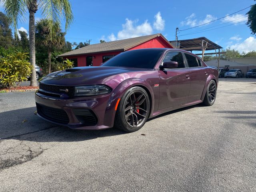
[[[106,61],[102,66],[153,69],[164,51],[164,49],[138,49],[127,51]]]

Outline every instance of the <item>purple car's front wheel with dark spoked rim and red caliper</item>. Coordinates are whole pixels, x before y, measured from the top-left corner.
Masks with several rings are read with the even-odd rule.
[[[138,131],[150,114],[150,100],[147,92],[141,87],[128,89],[118,104],[114,128],[126,132]]]

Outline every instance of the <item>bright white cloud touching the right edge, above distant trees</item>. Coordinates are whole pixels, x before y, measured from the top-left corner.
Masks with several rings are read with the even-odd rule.
[[[229,46],[231,49],[238,50],[239,52],[248,53],[250,51],[256,50],[256,38],[249,37],[241,43],[236,43]]]

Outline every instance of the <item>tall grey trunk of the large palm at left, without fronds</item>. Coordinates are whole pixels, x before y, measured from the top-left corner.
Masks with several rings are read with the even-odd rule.
[[[30,77],[30,86],[38,86],[36,81],[36,47],[35,47],[35,12],[37,11],[37,1],[31,1],[28,5],[29,10],[29,50],[30,63],[33,66]]]

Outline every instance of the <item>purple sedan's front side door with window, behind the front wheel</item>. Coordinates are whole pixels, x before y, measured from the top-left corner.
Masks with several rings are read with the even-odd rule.
[[[171,51],[163,62],[176,61],[178,68],[159,70],[160,96],[158,110],[185,104],[190,90],[190,70],[181,52]]]

